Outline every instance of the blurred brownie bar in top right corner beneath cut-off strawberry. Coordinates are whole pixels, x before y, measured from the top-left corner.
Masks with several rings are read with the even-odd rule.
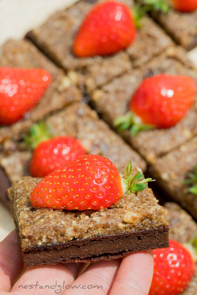
[[[175,42],[187,50],[197,46],[197,9],[189,13],[178,12],[173,9],[170,9],[167,14],[153,11],[152,17]]]

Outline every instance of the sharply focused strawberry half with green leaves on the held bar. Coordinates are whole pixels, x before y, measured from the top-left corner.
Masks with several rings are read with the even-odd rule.
[[[86,210],[110,207],[127,191],[147,187],[140,172],[131,176],[131,162],[121,180],[115,165],[100,155],[84,155],[43,178],[30,194],[38,208]]]

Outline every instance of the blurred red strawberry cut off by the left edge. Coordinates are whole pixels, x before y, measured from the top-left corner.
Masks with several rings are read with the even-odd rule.
[[[0,68],[0,124],[10,125],[24,117],[51,83],[44,69]]]

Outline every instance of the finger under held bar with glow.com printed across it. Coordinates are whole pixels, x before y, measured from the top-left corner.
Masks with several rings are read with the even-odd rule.
[[[121,259],[91,263],[63,294],[76,295],[78,290],[82,295],[109,294],[120,263]]]

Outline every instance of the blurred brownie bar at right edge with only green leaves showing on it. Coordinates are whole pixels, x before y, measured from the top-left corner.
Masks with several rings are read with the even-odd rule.
[[[163,155],[150,166],[157,183],[171,198],[197,219],[197,196],[188,192],[189,184],[183,184],[197,165],[197,137]]]

